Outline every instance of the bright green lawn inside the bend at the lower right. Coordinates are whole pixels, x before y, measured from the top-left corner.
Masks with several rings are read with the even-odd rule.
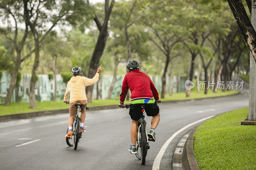
[[[204,122],[194,135],[200,169],[256,169],[256,127],[241,125],[248,108]]]

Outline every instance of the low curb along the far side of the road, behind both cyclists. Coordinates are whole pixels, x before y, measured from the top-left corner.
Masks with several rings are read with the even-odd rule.
[[[187,99],[187,100],[168,100],[162,101],[161,103],[178,103],[184,101],[196,101],[196,100],[204,100],[204,99],[216,99],[216,98],[226,98],[232,96],[238,96],[241,93],[238,92],[236,94],[230,94],[226,96],[218,96],[218,97],[207,97],[207,98],[198,98],[198,99]],[[90,106],[89,106],[90,107]],[[117,105],[108,105],[108,106],[91,106],[89,111],[94,110],[104,110],[104,109],[115,109],[118,108]],[[28,112],[28,113],[19,113],[19,114],[11,114],[11,115],[0,115],[0,121],[8,121],[12,119],[26,119],[30,117],[42,116],[42,115],[55,115],[60,113],[68,113],[68,109],[59,109],[59,110],[46,110],[46,111],[39,111],[39,112]]]

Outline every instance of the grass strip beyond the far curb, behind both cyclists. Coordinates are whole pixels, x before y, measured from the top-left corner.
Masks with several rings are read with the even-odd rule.
[[[224,96],[224,95],[235,94],[235,93],[238,93],[238,91],[231,90],[231,91],[221,92],[221,90],[219,90],[217,93],[213,93],[212,90],[209,90],[208,94],[204,94],[202,90],[200,93],[197,93],[195,90],[192,90],[190,97],[186,97],[185,92],[178,92],[178,93],[173,93],[172,96],[169,96],[169,94],[166,94],[165,98],[160,100],[166,101],[166,100],[198,99],[198,98]],[[87,106],[90,107],[90,106],[103,106],[103,105],[118,105],[118,103],[119,103],[119,99],[93,100],[92,103],[88,103]],[[125,101],[125,103],[128,104],[129,102]],[[11,105],[8,107],[4,105],[0,105],[0,115],[68,108],[68,105],[65,105],[63,101],[36,102],[36,109],[28,108],[28,106],[29,106],[29,103],[11,103]]]

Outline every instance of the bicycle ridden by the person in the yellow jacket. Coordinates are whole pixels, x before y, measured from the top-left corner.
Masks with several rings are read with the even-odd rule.
[[[69,102],[67,102],[66,104],[69,104]],[[83,104],[81,103],[77,103],[75,104],[77,107],[77,111],[76,111],[76,117],[74,118],[74,122],[72,125],[73,128],[73,134],[71,137],[66,137],[66,142],[68,144],[68,146],[73,146],[74,150],[76,150],[77,148],[77,144],[79,142],[79,139],[82,138],[82,132],[80,132],[80,123],[81,123],[81,112],[80,112],[80,107],[83,106]],[[89,109],[89,107],[86,106],[85,108],[86,110]],[[68,130],[67,130],[68,132]],[[74,136],[74,139],[72,139],[72,137]],[[72,143],[72,140],[74,140],[74,142]]]

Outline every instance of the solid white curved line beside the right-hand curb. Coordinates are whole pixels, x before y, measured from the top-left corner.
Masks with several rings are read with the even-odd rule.
[[[160,151],[158,152],[157,156],[156,156],[156,159],[154,160],[154,163],[153,163],[153,166],[152,166],[152,170],[158,170],[159,167],[160,167],[160,162],[161,162],[161,159],[164,155],[164,152],[166,150],[166,148],[168,147],[168,145],[172,142],[172,140],[174,139],[174,137],[176,137],[180,132],[182,132],[183,130],[187,129],[188,127],[196,124],[196,123],[199,123],[199,122],[203,122],[207,119],[210,119],[212,117],[214,117],[215,115],[213,116],[209,116],[209,117],[206,117],[204,119],[201,119],[201,120],[198,120],[196,122],[193,122],[193,123],[190,123],[188,124],[187,126],[184,126],[183,128],[181,128],[180,130],[178,130],[177,132],[175,132],[165,143],[164,145],[162,146],[162,148],[160,149]]]

